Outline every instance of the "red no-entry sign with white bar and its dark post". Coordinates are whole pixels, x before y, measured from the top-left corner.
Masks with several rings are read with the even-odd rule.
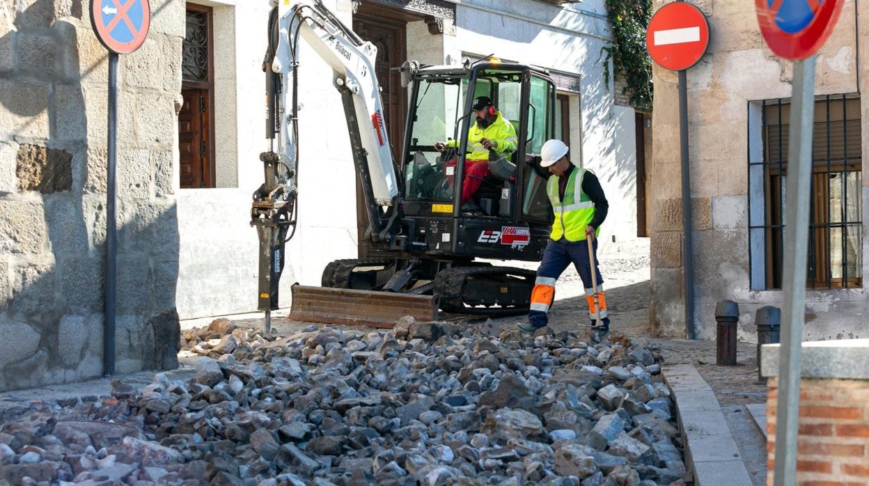
[[[655,63],[679,71],[679,139],[682,178],[682,283],[685,335],[695,339],[694,263],[691,230],[691,163],[688,158],[687,69],[700,61],[709,46],[709,23],[691,3],[667,3],[654,13],[646,29],[646,48]]]

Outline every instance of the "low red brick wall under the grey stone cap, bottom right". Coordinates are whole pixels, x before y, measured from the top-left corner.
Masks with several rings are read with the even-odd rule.
[[[779,380],[770,378],[766,402],[767,484],[775,468]],[[799,392],[797,483],[857,486],[869,483],[869,381],[803,378]]]

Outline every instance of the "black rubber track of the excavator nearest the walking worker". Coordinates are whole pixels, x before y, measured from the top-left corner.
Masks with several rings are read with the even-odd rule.
[[[536,272],[514,267],[452,267],[438,272],[434,296],[441,310],[471,316],[518,316],[531,304]]]

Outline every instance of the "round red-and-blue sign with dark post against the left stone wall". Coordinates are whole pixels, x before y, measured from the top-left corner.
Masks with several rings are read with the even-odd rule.
[[[90,0],[90,25],[96,38],[109,50],[109,126],[106,161],[105,325],[103,327],[103,376],[115,374],[115,303],[117,281],[117,63],[118,54],[129,54],[145,42],[151,23],[148,0]]]

